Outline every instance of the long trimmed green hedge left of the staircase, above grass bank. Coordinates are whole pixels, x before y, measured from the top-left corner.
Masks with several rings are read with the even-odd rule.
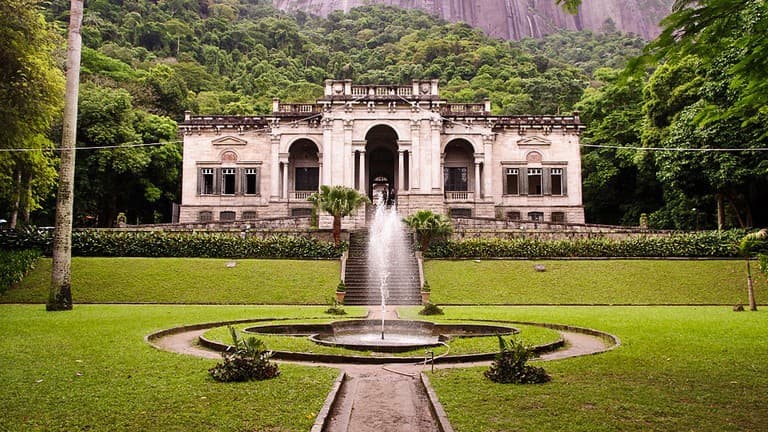
[[[50,255],[53,236],[48,232],[9,231],[0,234],[0,248],[37,247]],[[338,258],[346,244],[313,238],[276,235],[267,238],[221,233],[168,233],[164,231],[75,231],[72,255],[101,257],[174,258]]]

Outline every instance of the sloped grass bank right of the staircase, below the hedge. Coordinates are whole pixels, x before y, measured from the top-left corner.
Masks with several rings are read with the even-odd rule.
[[[747,303],[742,260],[430,260],[424,273],[441,305]],[[755,290],[765,302],[764,276]]]

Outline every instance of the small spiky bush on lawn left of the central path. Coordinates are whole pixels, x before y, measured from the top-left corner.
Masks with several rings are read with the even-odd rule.
[[[251,381],[275,378],[280,375],[277,365],[271,363],[270,351],[262,341],[251,336],[247,339],[237,337],[237,330],[229,327],[233,345],[225,352],[224,363],[219,363],[208,370],[216,381]]]

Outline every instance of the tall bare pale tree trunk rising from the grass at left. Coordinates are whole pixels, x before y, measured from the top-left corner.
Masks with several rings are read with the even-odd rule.
[[[75,183],[77,99],[80,86],[80,51],[83,38],[83,0],[70,0],[67,47],[67,87],[64,96],[64,127],[61,134],[59,191],[56,199],[56,229],[53,234],[51,291],[46,310],[72,309],[70,266],[72,264],[72,204]]]

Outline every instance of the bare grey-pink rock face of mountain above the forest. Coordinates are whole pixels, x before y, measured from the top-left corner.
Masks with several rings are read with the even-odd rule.
[[[273,0],[286,11],[302,10],[327,16],[336,10],[370,4],[421,9],[447,21],[463,21],[497,38],[540,38],[561,29],[619,30],[650,40],[659,34],[658,22],[673,0],[584,0],[570,15],[554,0]]]

